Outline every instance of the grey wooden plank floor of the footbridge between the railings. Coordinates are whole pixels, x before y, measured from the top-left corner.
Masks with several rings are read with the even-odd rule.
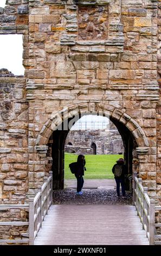
[[[149,245],[131,205],[52,205],[35,245]]]

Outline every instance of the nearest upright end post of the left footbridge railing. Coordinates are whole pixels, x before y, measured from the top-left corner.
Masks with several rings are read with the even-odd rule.
[[[29,198],[29,245],[34,245],[34,198]]]

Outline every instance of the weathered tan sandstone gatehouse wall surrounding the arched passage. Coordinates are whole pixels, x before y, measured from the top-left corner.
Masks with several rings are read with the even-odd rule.
[[[160,16],[161,0],[7,0],[0,8],[0,34],[23,35],[25,68],[24,77],[0,75],[0,203],[35,194],[54,149],[63,182],[55,127],[68,108],[69,118],[109,113],[126,164],[161,204]]]

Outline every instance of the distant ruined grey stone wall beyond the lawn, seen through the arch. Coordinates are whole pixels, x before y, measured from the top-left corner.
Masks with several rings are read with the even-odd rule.
[[[124,154],[123,140],[114,125],[110,125],[110,129],[70,130],[65,152],[93,155],[93,143],[96,145],[96,155]]]

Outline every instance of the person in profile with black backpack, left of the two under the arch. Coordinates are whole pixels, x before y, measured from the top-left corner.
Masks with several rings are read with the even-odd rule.
[[[84,184],[83,175],[85,174],[84,171],[86,170],[85,164],[86,164],[86,160],[85,160],[85,156],[83,155],[78,156],[77,162],[69,164],[69,168],[71,172],[75,175],[75,178],[77,180],[76,194],[78,195],[83,194],[81,190]]]

